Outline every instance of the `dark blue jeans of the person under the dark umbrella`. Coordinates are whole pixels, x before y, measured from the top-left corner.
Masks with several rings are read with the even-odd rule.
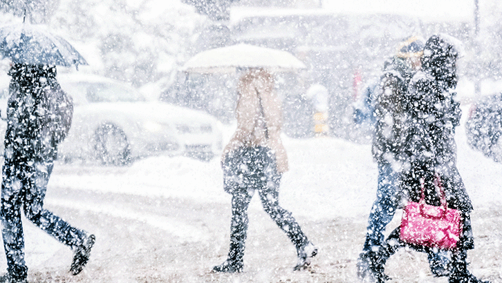
[[[73,228],[61,218],[43,208],[47,183],[53,162],[14,162],[3,164],[1,191],[2,236],[8,264],[8,273],[17,280],[25,279],[28,267],[24,262],[24,234],[21,208],[33,224],[71,246],[84,240],[85,232]]]

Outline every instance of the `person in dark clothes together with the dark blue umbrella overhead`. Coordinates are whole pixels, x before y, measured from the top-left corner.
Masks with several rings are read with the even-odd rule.
[[[73,249],[70,272],[77,275],[89,260],[95,236],[47,211],[44,198],[57,144],[73,117],[73,101],[59,86],[55,66],[87,62],[62,37],[25,23],[0,28],[0,55],[12,60],[0,208],[8,273],[0,283],[28,277],[21,209],[33,224]]]

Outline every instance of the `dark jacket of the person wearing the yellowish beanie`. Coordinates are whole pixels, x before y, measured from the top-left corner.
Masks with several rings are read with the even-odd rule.
[[[400,161],[402,157],[403,104],[414,72],[405,59],[399,57],[393,57],[384,66],[373,102],[376,123],[372,153],[377,162]]]

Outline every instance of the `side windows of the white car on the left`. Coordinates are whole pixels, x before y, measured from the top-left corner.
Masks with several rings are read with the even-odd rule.
[[[74,83],[68,85],[66,90],[75,104],[145,101],[136,90],[109,83]]]

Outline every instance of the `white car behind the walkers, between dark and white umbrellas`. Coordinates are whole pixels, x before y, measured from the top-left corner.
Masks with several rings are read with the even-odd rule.
[[[58,81],[75,105],[58,159],[124,165],[159,153],[210,160],[221,152],[221,124],[203,111],[147,101],[135,88],[95,75],[58,75]]]

